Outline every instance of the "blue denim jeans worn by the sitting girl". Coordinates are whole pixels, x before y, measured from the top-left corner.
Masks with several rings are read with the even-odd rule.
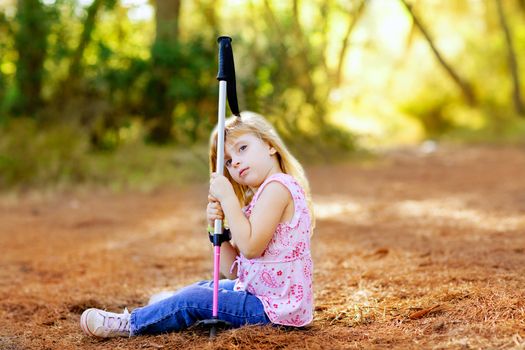
[[[259,299],[248,292],[234,291],[235,281],[219,281],[218,318],[233,327],[269,324]],[[157,303],[131,313],[131,335],[180,331],[199,320],[212,318],[213,281],[201,281],[177,291]]]

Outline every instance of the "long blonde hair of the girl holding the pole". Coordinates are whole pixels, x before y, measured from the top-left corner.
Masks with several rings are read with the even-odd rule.
[[[305,194],[308,209],[311,217],[311,232],[315,227],[315,218],[313,212],[312,197],[310,194],[310,185],[304,173],[304,169],[297,159],[288,151],[284,142],[281,140],[275,128],[260,114],[253,112],[241,112],[240,116],[232,116],[226,119],[225,127],[225,142],[228,137],[236,139],[237,137],[251,133],[259,137],[262,141],[268,143],[277,152],[276,156],[279,161],[279,166],[283,173],[291,175],[301,185]],[[217,127],[215,127],[210,137],[210,171],[217,171]],[[241,185],[233,180],[230,173],[224,167],[224,176],[231,182],[235,195],[239,200],[241,206],[246,206],[250,203],[254,193],[246,186]]]

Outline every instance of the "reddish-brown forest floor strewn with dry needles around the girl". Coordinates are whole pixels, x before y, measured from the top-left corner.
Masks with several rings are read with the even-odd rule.
[[[398,149],[307,169],[315,317],[98,340],[88,307],[130,311],[212,271],[207,184],[0,196],[0,349],[525,349],[525,147]]]

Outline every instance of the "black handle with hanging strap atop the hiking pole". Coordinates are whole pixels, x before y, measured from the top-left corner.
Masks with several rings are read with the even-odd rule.
[[[234,115],[239,116],[239,105],[237,102],[237,88],[235,81],[235,63],[233,61],[232,38],[229,36],[220,36],[217,39],[219,43],[219,73],[217,80],[226,81],[226,90],[228,96],[228,105]]]

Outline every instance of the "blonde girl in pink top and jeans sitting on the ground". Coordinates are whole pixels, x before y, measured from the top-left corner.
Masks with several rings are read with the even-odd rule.
[[[301,165],[260,115],[243,112],[225,127],[225,176],[215,171],[217,130],[210,140],[207,219],[226,219],[231,241],[222,244],[218,318],[233,327],[301,327],[313,316],[313,229],[309,186]],[[180,331],[212,317],[213,281],[117,314],[88,309],[83,331],[97,337]]]

